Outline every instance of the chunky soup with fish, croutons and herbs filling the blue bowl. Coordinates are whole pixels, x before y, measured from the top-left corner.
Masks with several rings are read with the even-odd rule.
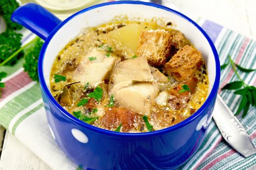
[[[51,92],[78,119],[118,132],[149,132],[194,114],[206,100],[201,56],[171,23],[122,21],[87,28],[51,70]]]

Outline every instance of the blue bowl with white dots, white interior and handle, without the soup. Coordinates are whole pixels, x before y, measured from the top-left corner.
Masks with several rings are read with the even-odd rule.
[[[188,119],[166,129],[147,133],[119,133],[87,124],[64,110],[50,92],[53,60],[58,52],[81,33],[120,14],[131,17],[162,17],[202,51],[209,72],[206,102]],[[38,34],[45,43],[39,56],[39,82],[50,131],[62,151],[84,169],[176,169],[200,147],[217,97],[220,65],[209,36],[193,20],[167,7],[140,1],[98,4],[60,21],[35,3],[19,7],[12,20]]]

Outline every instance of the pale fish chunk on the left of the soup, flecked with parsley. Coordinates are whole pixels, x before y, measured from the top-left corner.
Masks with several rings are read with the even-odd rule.
[[[103,51],[94,49],[82,58],[72,78],[82,85],[89,83],[89,86],[94,87],[108,78],[117,61],[118,57],[105,57]]]

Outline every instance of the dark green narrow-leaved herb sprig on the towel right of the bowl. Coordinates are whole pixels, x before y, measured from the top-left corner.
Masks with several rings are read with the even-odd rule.
[[[228,83],[227,85],[222,87],[221,90],[236,90],[234,92],[234,94],[241,95],[242,99],[239,103],[239,106],[238,106],[238,109],[236,110],[235,115],[238,115],[243,110],[242,118],[244,118],[249,110],[250,105],[256,107],[256,87],[253,85],[247,85],[239,76],[236,68],[239,69],[240,71],[246,72],[246,73],[255,71],[256,69],[243,68],[243,67],[239,66],[238,64],[236,64],[232,60],[230,55],[228,55],[228,57],[229,57],[229,62],[222,65],[220,68],[224,69],[228,65],[231,65],[231,67],[233,68],[234,72],[236,73],[236,76],[238,77],[239,81],[234,81],[234,82]]]

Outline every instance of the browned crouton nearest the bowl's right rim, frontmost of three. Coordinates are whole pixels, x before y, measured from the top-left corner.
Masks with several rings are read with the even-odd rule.
[[[164,65],[164,69],[175,80],[185,82],[194,75],[202,63],[201,52],[190,46],[185,46]]]

